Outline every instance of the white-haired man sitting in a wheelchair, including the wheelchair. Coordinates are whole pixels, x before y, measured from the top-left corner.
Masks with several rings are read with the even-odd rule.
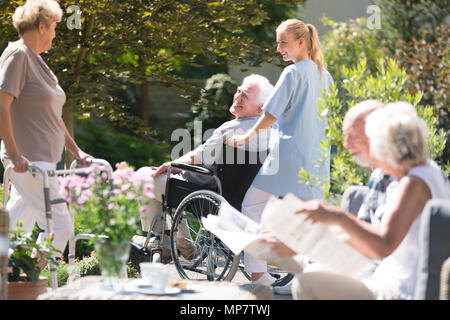
[[[235,119],[223,123],[205,143],[175,161],[137,171],[154,178],[155,199],[142,214],[147,236],[133,237],[135,248],[152,261],[173,259],[186,279],[205,275],[208,280],[232,279],[239,257],[202,227],[201,217],[217,214],[224,199],[241,209],[245,192],[268,153],[269,131],[240,149],[225,142],[256,123],[272,90],[265,77],[253,74],[244,78],[230,107]]]

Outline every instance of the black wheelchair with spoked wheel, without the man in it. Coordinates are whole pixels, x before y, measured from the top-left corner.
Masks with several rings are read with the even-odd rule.
[[[238,269],[243,271],[241,255],[232,251],[214,234],[207,231],[201,218],[208,214],[218,214],[220,205],[227,201],[241,211],[246,191],[258,173],[267,156],[267,151],[249,152],[226,144],[222,146],[222,164],[217,164],[217,175],[204,167],[172,162],[167,172],[166,190],[162,195],[162,215],[153,219],[143,245],[132,243],[141,255],[149,256],[153,262],[165,262],[163,250],[170,250],[178,274],[183,279],[209,281],[231,281]],[[185,181],[176,177],[176,171],[209,177],[213,183],[202,184]],[[197,179],[196,179],[197,180]],[[155,228],[157,221],[160,228]],[[186,239],[186,231],[188,238]],[[149,248],[153,237],[155,242]],[[170,243],[163,241],[170,238]],[[197,254],[187,259],[181,254],[183,241],[192,241]],[[244,272],[244,271],[243,271]],[[280,278],[290,281],[292,275],[284,275],[281,270],[269,272],[275,277],[275,285],[284,285]],[[248,275],[244,272],[248,277]],[[286,278],[291,276],[291,278]]]

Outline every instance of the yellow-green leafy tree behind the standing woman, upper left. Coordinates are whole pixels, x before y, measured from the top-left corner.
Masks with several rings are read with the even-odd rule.
[[[0,39],[17,39],[11,17],[22,0],[0,1]],[[285,1],[274,1],[274,3]],[[226,58],[243,63],[264,52],[243,27],[268,19],[267,1],[222,0],[62,0],[63,21],[58,24],[54,49],[44,59],[55,71],[67,95],[64,120],[73,133],[73,114],[95,115],[126,126],[150,139],[155,133],[142,119],[129,114],[126,102],[114,96],[131,84],[146,85],[148,78],[192,89],[175,75],[174,65],[192,63],[198,55],[210,63]],[[81,10],[81,29],[69,29]],[[66,163],[70,162],[67,159]]]

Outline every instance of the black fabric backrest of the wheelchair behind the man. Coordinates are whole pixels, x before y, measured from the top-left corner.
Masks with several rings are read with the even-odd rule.
[[[245,193],[267,157],[267,151],[250,152],[224,144],[222,164],[217,166],[217,176],[222,183],[222,196],[241,211]]]

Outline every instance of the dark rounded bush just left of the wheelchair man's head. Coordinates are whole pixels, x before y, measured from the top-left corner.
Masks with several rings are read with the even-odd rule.
[[[226,74],[215,74],[207,79],[200,98],[191,107],[193,120],[187,123],[188,130],[193,130],[194,121],[201,121],[203,129],[209,129],[231,120],[229,108],[236,89],[236,82]]]

